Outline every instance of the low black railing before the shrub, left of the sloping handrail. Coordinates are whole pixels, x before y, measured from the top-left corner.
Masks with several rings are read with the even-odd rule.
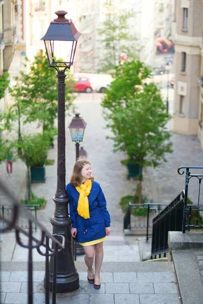
[[[131,230],[135,233],[146,233],[146,241],[150,238],[152,230],[152,219],[159,214],[168,204],[131,204],[129,202],[127,211],[123,218],[123,229]],[[134,216],[133,216],[134,215]]]

